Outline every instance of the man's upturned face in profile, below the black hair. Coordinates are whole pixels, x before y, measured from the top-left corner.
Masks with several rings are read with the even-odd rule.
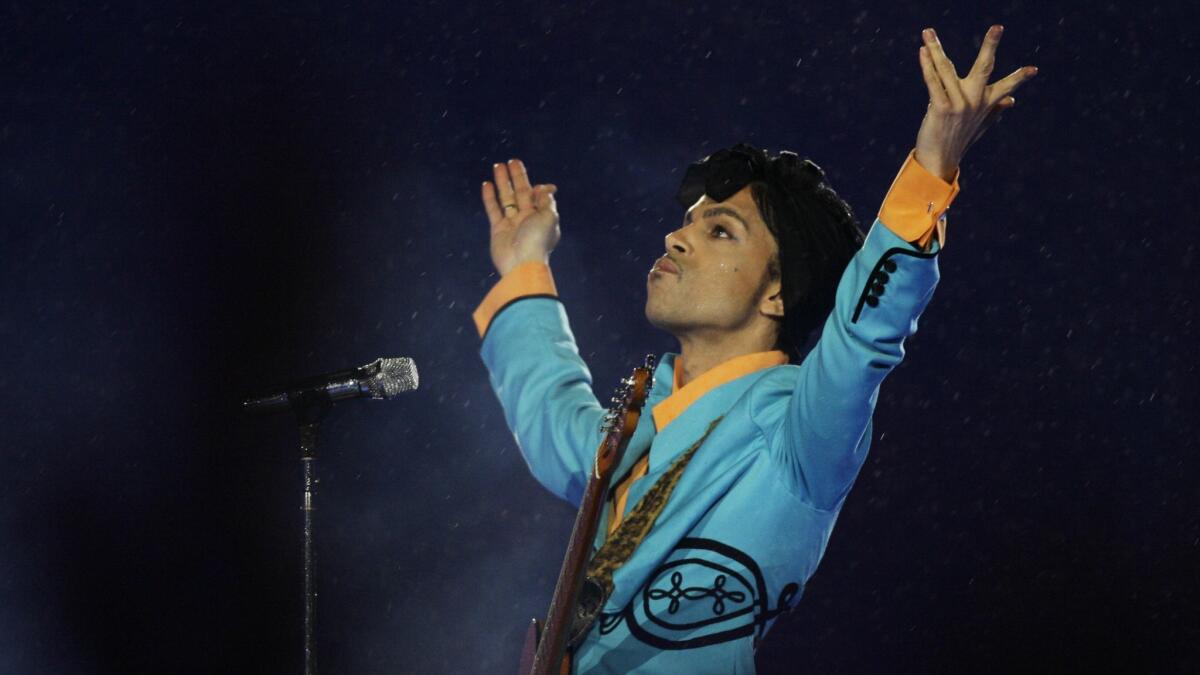
[[[719,335],[782,316],[780,282],[769,271],[778,246],[750,186],[724,202],[702,197],[667,234],[666,249],[646,280],[646,317],[655,327]]]

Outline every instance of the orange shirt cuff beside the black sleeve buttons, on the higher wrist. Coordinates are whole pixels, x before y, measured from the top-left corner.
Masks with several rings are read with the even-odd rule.
[[[960,173],[955,171],[954,181],[946,183],[920,166],[917,150],[912,150],[892,181],[888,196],[883,198],[880,221],[896,237],[917,244],[922,250],[929,247],[936,229],[938,243],[946,246],[943,215],[959,193]]]

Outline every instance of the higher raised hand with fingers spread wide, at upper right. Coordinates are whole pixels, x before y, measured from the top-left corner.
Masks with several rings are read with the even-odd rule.
[[[1013,91],[1038,73],[1034,66],[1022,66],[988,84],[1003,31],[1000,25],[988,29],[974,66],[961,79],[934,29],[922,31],[925,44],[919,59],[929,88],[929,109],[917,132],[917,161],[947,183],[954,179],[967,148],[1016,103]]]

